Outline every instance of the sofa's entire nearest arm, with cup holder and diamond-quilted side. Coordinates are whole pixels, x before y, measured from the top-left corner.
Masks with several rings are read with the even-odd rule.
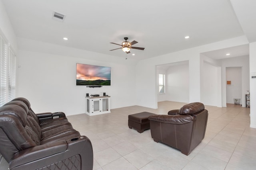
[[[70,158],[78,159],[78,162],[81,162],[72,162]],[[54,166],[55,163],[63,160],[67,160],[71,164],[80,164],[81,170],[92,170],[93,150],[90,139],[86,136],[78,136],[66,141],[56,141],[22,150],[14,155],[9,163],[9,169],[40,169],[50,165]]]

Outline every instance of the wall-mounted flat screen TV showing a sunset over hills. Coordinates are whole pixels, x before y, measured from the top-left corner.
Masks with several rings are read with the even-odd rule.
[[[76,85],[110,86],[111,67],[76,64]]]

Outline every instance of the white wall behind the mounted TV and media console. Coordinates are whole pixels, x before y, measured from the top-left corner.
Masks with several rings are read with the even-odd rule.
[[[31,43],[33,43],[31,46],[37,44],[42,49],[49,45],[55,49],[55,53],[58,51],[62,53],[62,48],[68,48],[36,41],[29,43],[22,39],[19,43],[27,43],[26,49],[29,49]],[[23,47],[25,48],[25,45]],[[136,104],[134,100],[136,64],[132,61],[71,48],[68,48],[68,51],[76,51],[78,55],[70,57],[32,50],[34,49],[19,51],[18,89],[19,96],[27,98],[36,113],[44,111],[63,111],[67,115],[85,113],[86,93],[106,92],[111,96],[111,109]],[[87,59],[92,56],[95,60]],[[111,86],[102,88],[76,86],[76,63],[111,67]]]

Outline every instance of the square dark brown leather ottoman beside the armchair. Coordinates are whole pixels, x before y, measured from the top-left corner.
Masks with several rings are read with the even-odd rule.
[[[150,129],[150,123],[149,123],[148,117],[151,115],[156,115],[156,114],[144,111],[141,113],[128,115],[129,128],[136,129],[138,133],[142,133],[144,132],[144,130]]]

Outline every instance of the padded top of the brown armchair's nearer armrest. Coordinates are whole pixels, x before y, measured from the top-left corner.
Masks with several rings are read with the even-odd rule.
[[[148,117],[149,120],[159,121],[162,123],[171,123],[176,125],[182,125],[196,120],[194,116],[190,115],[153,115]]]

